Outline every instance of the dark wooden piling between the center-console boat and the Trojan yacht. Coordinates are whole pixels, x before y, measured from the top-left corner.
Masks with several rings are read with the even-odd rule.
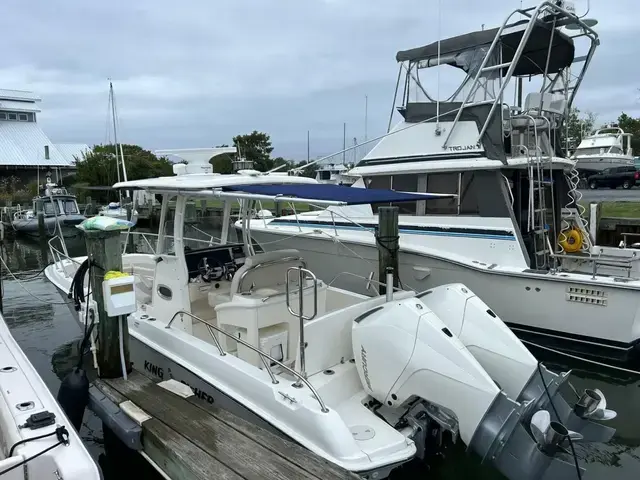
[[[378,209],[378,229],[376,232],[378,245],[378,281],[380,294],[386,293],[387,268],[393,269],[393,286],[398,287],[398,207],[380,207]]]

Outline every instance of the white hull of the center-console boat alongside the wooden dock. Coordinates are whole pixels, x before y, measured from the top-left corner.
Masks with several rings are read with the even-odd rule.
[[[57,264],[47,267],[45,275],[66,298],[72,276],[65,275]],[[71,304],[70,309],[82,326],[82,319]],[[319,395],[329,399],[325,413],[306,387],[293,387],[294,378],[279,375],[279,383],[273,384],[264,370],[231,354],[221,356],[210,341],[165,327],[155,319],[143,318],[139,312],[129,317],[129,352],[134,368],[159,380],[175,378],[184,382],[202,401],[219,404],[358,474],[375,473],[375,478],[382,479],[415,457],[413,441],[372,416],[363,405],[367,394],[353,362],[335,366],[331,375],[319,372],[309,376]],[[369,425],[376,435],[356,441],[345,418],[351,421],[348,425]]]

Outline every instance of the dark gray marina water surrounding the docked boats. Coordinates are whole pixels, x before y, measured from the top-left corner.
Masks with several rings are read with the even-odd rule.
[[[67,242],[71,255],[82,255],[81,239]],[[51,261],[46,246],[37,241],[23,239],[5,240],[4,258],[11,272],[20,278],[16,281],[3,271],[4,318],[14,337],[38,370],[41,377],[57,394],[60,379],[78,361],[78,342],[81,331],[71,318],[67,305],[56,288],[44,274],[35,275]],[[609,425],[617,429],[616,436],[607,445],[576,445],[578,457],[587,468],[585,479],[636,480],[640,478],[640,376],[615,374],[612,370],[574,362],[567,364],[564,358],[540,354],[539,359],[555,370],[573,369],[571,383],[581,391],[599,388],[607,397],[608,407],[618,412]],[[89,363],[89,362],[87,362]],[[104,454],[100,421],[90,412],[85,414],[80,432],[88,450],[103,468],[106,480],[125,478],[149,478],[131,472]],[[121,469],[114,473],[114,465]],[[404,478],[425,478],[424,472],[403,472]],[[401,477],[401,478],[402,478]],[[490,468],[482,467],[477,459],[466,455],[462,448],[446,454],[443,464],[429,478],[461,480],[466,478],[500,479]]]

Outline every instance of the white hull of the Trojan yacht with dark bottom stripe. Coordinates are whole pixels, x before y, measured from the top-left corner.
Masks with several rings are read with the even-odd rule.
[[[296,248],[319,278],[338,288],[369,293],[353,275],[378,278],[378,251],[365,231],[303,234],[297,228],[265,228],[252,222],[253,238],[270,249]],[[357,229],[356,229],[357,230]],[[316,229],[318,232],[318,230]],[[446,256],[403,248],[400,280],[405,288],[423,291],[447,283],[463,283],[489,305],[523,339],[556,345],[616,361],[635,361],[640,353],[640,285],[594,281],[582,273],[535,273],[478,261],[465,263]],[[473,251],[471,252],[473,254]],[[604,302],[602,301],[604,300]]]

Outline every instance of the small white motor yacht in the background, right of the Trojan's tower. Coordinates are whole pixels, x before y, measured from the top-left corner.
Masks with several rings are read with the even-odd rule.
[[[635,166],[630,133],[620,127],[606,127],[585,137],[573,152],[576,169],[583,176],[601,172],[605,168]]]

